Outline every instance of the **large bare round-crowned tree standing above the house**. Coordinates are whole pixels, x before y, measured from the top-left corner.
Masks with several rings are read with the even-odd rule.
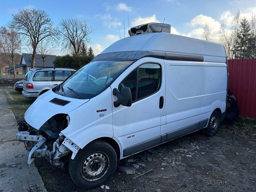
[[[33,48],[31,68],[34,68],[38,43],[43,39],[54,38],[57,30],[46,12],[35,8],[19,10],[13,15],[13,23],[19,33],[25,35],[31,42]]]

